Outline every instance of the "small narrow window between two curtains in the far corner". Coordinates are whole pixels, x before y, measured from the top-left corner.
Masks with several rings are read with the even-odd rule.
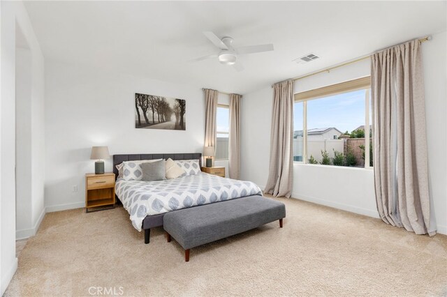
[[[216,126],[216,160],[227,160],[228,133],[230,132],[230,109],[228,105],[217,105]]]

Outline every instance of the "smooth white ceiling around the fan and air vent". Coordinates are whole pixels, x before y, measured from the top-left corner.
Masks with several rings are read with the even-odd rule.
[[[45,59],[168,82],[247,93],[446,30],[446,1],[27,1]],[[237,73],[217,60],[188,62],[216,47],[273,43],[240,57]],[[292,62],[309,53],[321,59]]]

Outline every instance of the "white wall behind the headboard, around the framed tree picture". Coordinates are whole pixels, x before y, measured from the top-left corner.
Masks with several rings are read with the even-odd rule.
[[[200,86],[45,61],[45,205],[85,206],[91,146],[119,153],[202,153],[205,101]],[[135,93],[186,100],[186,131],[135,128]],[[112,159],[105,161],[112,171]],[[78,192],[73,192],[78,185]]]

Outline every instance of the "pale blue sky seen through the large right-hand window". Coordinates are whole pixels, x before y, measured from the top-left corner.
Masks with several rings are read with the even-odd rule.
[[[296,102],[293,130],[302,130],[303,103]],[[340,132],[352,132],[365,125],[365,90],[307,101],[307,130],[335,127]]]

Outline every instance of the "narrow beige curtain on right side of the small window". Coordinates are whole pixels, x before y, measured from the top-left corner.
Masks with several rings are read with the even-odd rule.
[[[228,172],[230,178],[240,178],[240,100],[242,96],[230,94],[230,135],[228,139]]]

